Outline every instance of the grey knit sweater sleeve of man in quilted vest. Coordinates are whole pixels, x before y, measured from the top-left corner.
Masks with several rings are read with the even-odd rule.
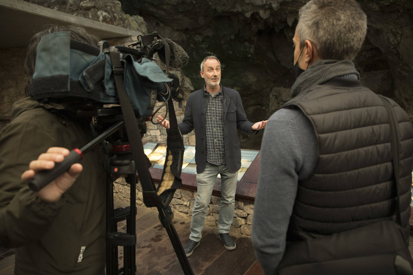
[[[316,167],[317,139],[300,110],[280,109],[268,120],[261,143],[252,242],[264,274],[274,274],[285,250],[298,181]],[[271,230],[264,230],[271,228]]]

